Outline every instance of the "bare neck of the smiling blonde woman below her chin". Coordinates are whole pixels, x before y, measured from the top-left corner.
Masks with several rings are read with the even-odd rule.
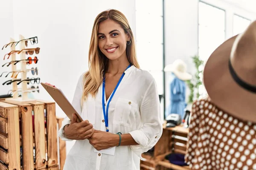
[[[121,56],[116,60],[109,59],[107,73],[114,75],[118,73],[123,73],[129,64],[130,62],[128,61],[126,55]]]

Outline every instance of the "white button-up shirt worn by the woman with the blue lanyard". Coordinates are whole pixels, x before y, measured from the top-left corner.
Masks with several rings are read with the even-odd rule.
[[[94,129],[105,131],[102,85],[96,98],[89,95],[81,107],[83,75],[76,86],[72,105],[83,120],[93,124]],[[70,140],[63,135],[63,127],[67,124],[70,124],[68,117],[58,133],[62,140]],[[148,71],[134,65],[125,71],[109,104],[108,128],[109,133],[130,133],[138,145],[116,147],[112,156],[96,153],[88,139],[77,140],[67,154],[64,170],[140,170],[141,154],[151,149],[163,132],[157,85]]]

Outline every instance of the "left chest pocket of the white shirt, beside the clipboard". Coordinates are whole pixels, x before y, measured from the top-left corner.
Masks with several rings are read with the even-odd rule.
[[[89,96],[84,102],[82,119],[88,120],[92,125],[95,124],[95,107],[95,100]]]

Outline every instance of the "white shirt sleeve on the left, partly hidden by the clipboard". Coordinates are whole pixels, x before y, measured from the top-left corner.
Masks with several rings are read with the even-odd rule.
[[[76,110],[77,113],[79,113],[79,115],[81,116],[81,112],[82,112],[82,107],[81,107],[81,98],[82,98],[82,94],[83,94],[83,77],[84,74],[82,74],[79,77],[78,83],[76,85],[76,90],[75,90],[75,94],[73,96],[73,101],[72,101],[72,106],[74,107],[74,109]],[[64,118],[64,120],[62,121],[62,125],[61,128],[58,131],[58,136],[64,140],[64,141],[72,141],[71,139],[67,139],[64,134],[63,134],[63,130],[64,130],[64,126],[69,125],[70,124],[70,119],[66,116]]]

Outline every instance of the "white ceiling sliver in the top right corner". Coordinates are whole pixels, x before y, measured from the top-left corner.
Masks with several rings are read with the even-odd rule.
[[[234,6],[256,13],[256,0],[223,0]]]

